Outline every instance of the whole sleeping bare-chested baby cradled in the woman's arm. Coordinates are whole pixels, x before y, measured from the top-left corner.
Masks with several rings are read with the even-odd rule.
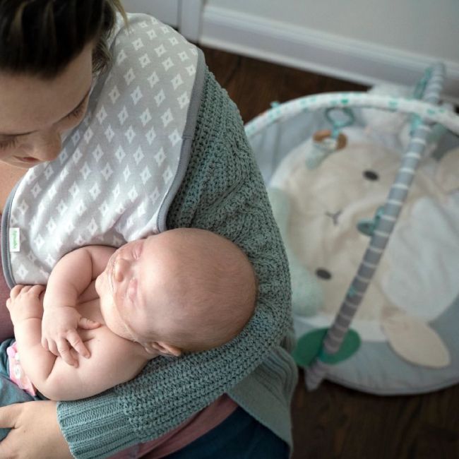
[[[129,381],[159,355],[234,338],[254,312],[256,277],[229,240],[181,228],[117,250],[76,249],[56,263],[42,306],[43,292],[16,285],[7,302],[16,338],[8,355],[19,365],[20,354],[15,382],[76,400]]]

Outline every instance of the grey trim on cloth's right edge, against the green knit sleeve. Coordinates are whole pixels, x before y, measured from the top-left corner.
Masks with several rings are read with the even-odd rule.
[[[188,112],[186,115],[186,124],[183,133],[183,141],[181,143],[181,152],[179,165],[175,174],[174,182],[169,187],[164,200],[161,203],[160,210],[157,215],[157,227],[160,231],[167,229],[166,218],[169,212],[169,207],[174,201],[174,197],[179,191],[181,182],[183,181],[186,169],[189,164],[191,155],[191,145],[193,143],[194,132],[196,130],[196,122],[198,120],[199,107],[201,106],[201,96],[203,93],[204,79],[205,79],[205,59],[201,49],[198,49],[198,62],[196,64],[196,78],[193,85],[193,92],[191,93]]]

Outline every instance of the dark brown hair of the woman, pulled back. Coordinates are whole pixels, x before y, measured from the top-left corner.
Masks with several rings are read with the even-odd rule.
[[[110,60],[120,0],[0,0],[0,71],[54,78],[95,41],[93,70]]]

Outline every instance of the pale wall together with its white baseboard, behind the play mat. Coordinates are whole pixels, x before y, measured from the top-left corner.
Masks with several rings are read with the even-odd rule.
[[[458,0],[207,0],[200,42],[369,84],[441,60],[459,101]]]

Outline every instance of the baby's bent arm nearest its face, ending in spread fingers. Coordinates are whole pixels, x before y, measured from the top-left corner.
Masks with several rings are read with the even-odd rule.
[[[114,249],[107,246],[81,247],[63,256],[49,276],[43,302],[41,342],[45,350],[62,357],[70,365],[78,364],[70,348],[83,357],[90,357],[76,329],[100,326],[79,314],[75,308],[77,299],[102,273],[113,252]]]

